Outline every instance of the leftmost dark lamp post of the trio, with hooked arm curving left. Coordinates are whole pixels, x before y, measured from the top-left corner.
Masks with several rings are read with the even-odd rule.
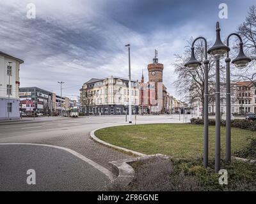
[[[202,63],[199,62],[195,57],[195,42],[197,40],[204,40],[205,44],[205,60],[204,60],[204,68],[205,68],[205,80],[204,80],[204,166],[208,165],[208,64],[209,60],[207,59],[207,40],[204,37],[196,38],[191,47],[191,57],[184,66],[188,67],[190,71],[195,71],[198,66],[201,66]]]

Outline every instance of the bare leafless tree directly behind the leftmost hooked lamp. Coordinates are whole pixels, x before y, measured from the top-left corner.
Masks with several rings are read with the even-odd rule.
[[[188,41],[191,45],[193,39]],[[209,47],[211,45],[208,45]],[[205,82],[205,50],[204,50],[204,41],[198,41],[195,45],[195,56],[196,59],[202,62],[196,71],[190,71],[189,68],[184,66],[185,62],[189,60],[191,55],[190,46],[185,47],[184,55],[175,55],[176,61],[173,63],[175,67],[175,73],[177,74],[178,79],[173,82],[175,85],[177,94],[179,94],[182,99],[189,101],[189,103],[194,103],[200,101],[204,107],[204,82]],[[211,89],[209,89],[209,101],[214,103],[214,80],[215,80],[215,60],[209,55],[209,84],[212,84]],[[223,67],[221,66],[221,72]],[[222,80],[222,78],[221,78]],[[204,115],[204,114],[203,114]]]

